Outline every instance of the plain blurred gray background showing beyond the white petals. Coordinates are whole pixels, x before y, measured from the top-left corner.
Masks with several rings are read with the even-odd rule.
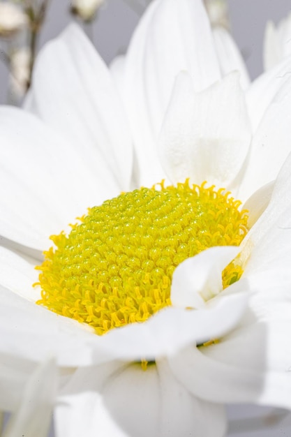
[[[68,0],[52,0],[40,36],[40,47],[47,40],[57,36],[66,24],[74,20],[68,12],[69,7]],[[244,56],[251,78],[254,79],[262,72],[262,40],[265,24],[270,19],[277,23],[290,13],[291,0],[229,0],[229,8],[232,34]],[[90,29],[93,31],[97,50],[107,63],[126,50],[137,21],[138,15],[126,6],[123,0],[107,0],[106,6],[98,14],[98,20],[94,22],[93,29]],[[0,103],[7,101],[7,80],[7,68],[0,63]],[[230,417],[230,432],[227,437],[291,436],[291,418],[283,411],[277,410],[274,415],[274,410],[271,408],[230,406],[227,412]],[[265,418],[258,421],[256,417],[259,415],[264,415]],[[267,428],[258,429],[262,424]]]

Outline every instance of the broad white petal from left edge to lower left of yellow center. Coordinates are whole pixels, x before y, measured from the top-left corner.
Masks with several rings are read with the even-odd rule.
[[[91,362],[89,341],[95,334],[5,288],[0,297],[1,354],[34,362],[55,356],[57,364],[68,366]]]

